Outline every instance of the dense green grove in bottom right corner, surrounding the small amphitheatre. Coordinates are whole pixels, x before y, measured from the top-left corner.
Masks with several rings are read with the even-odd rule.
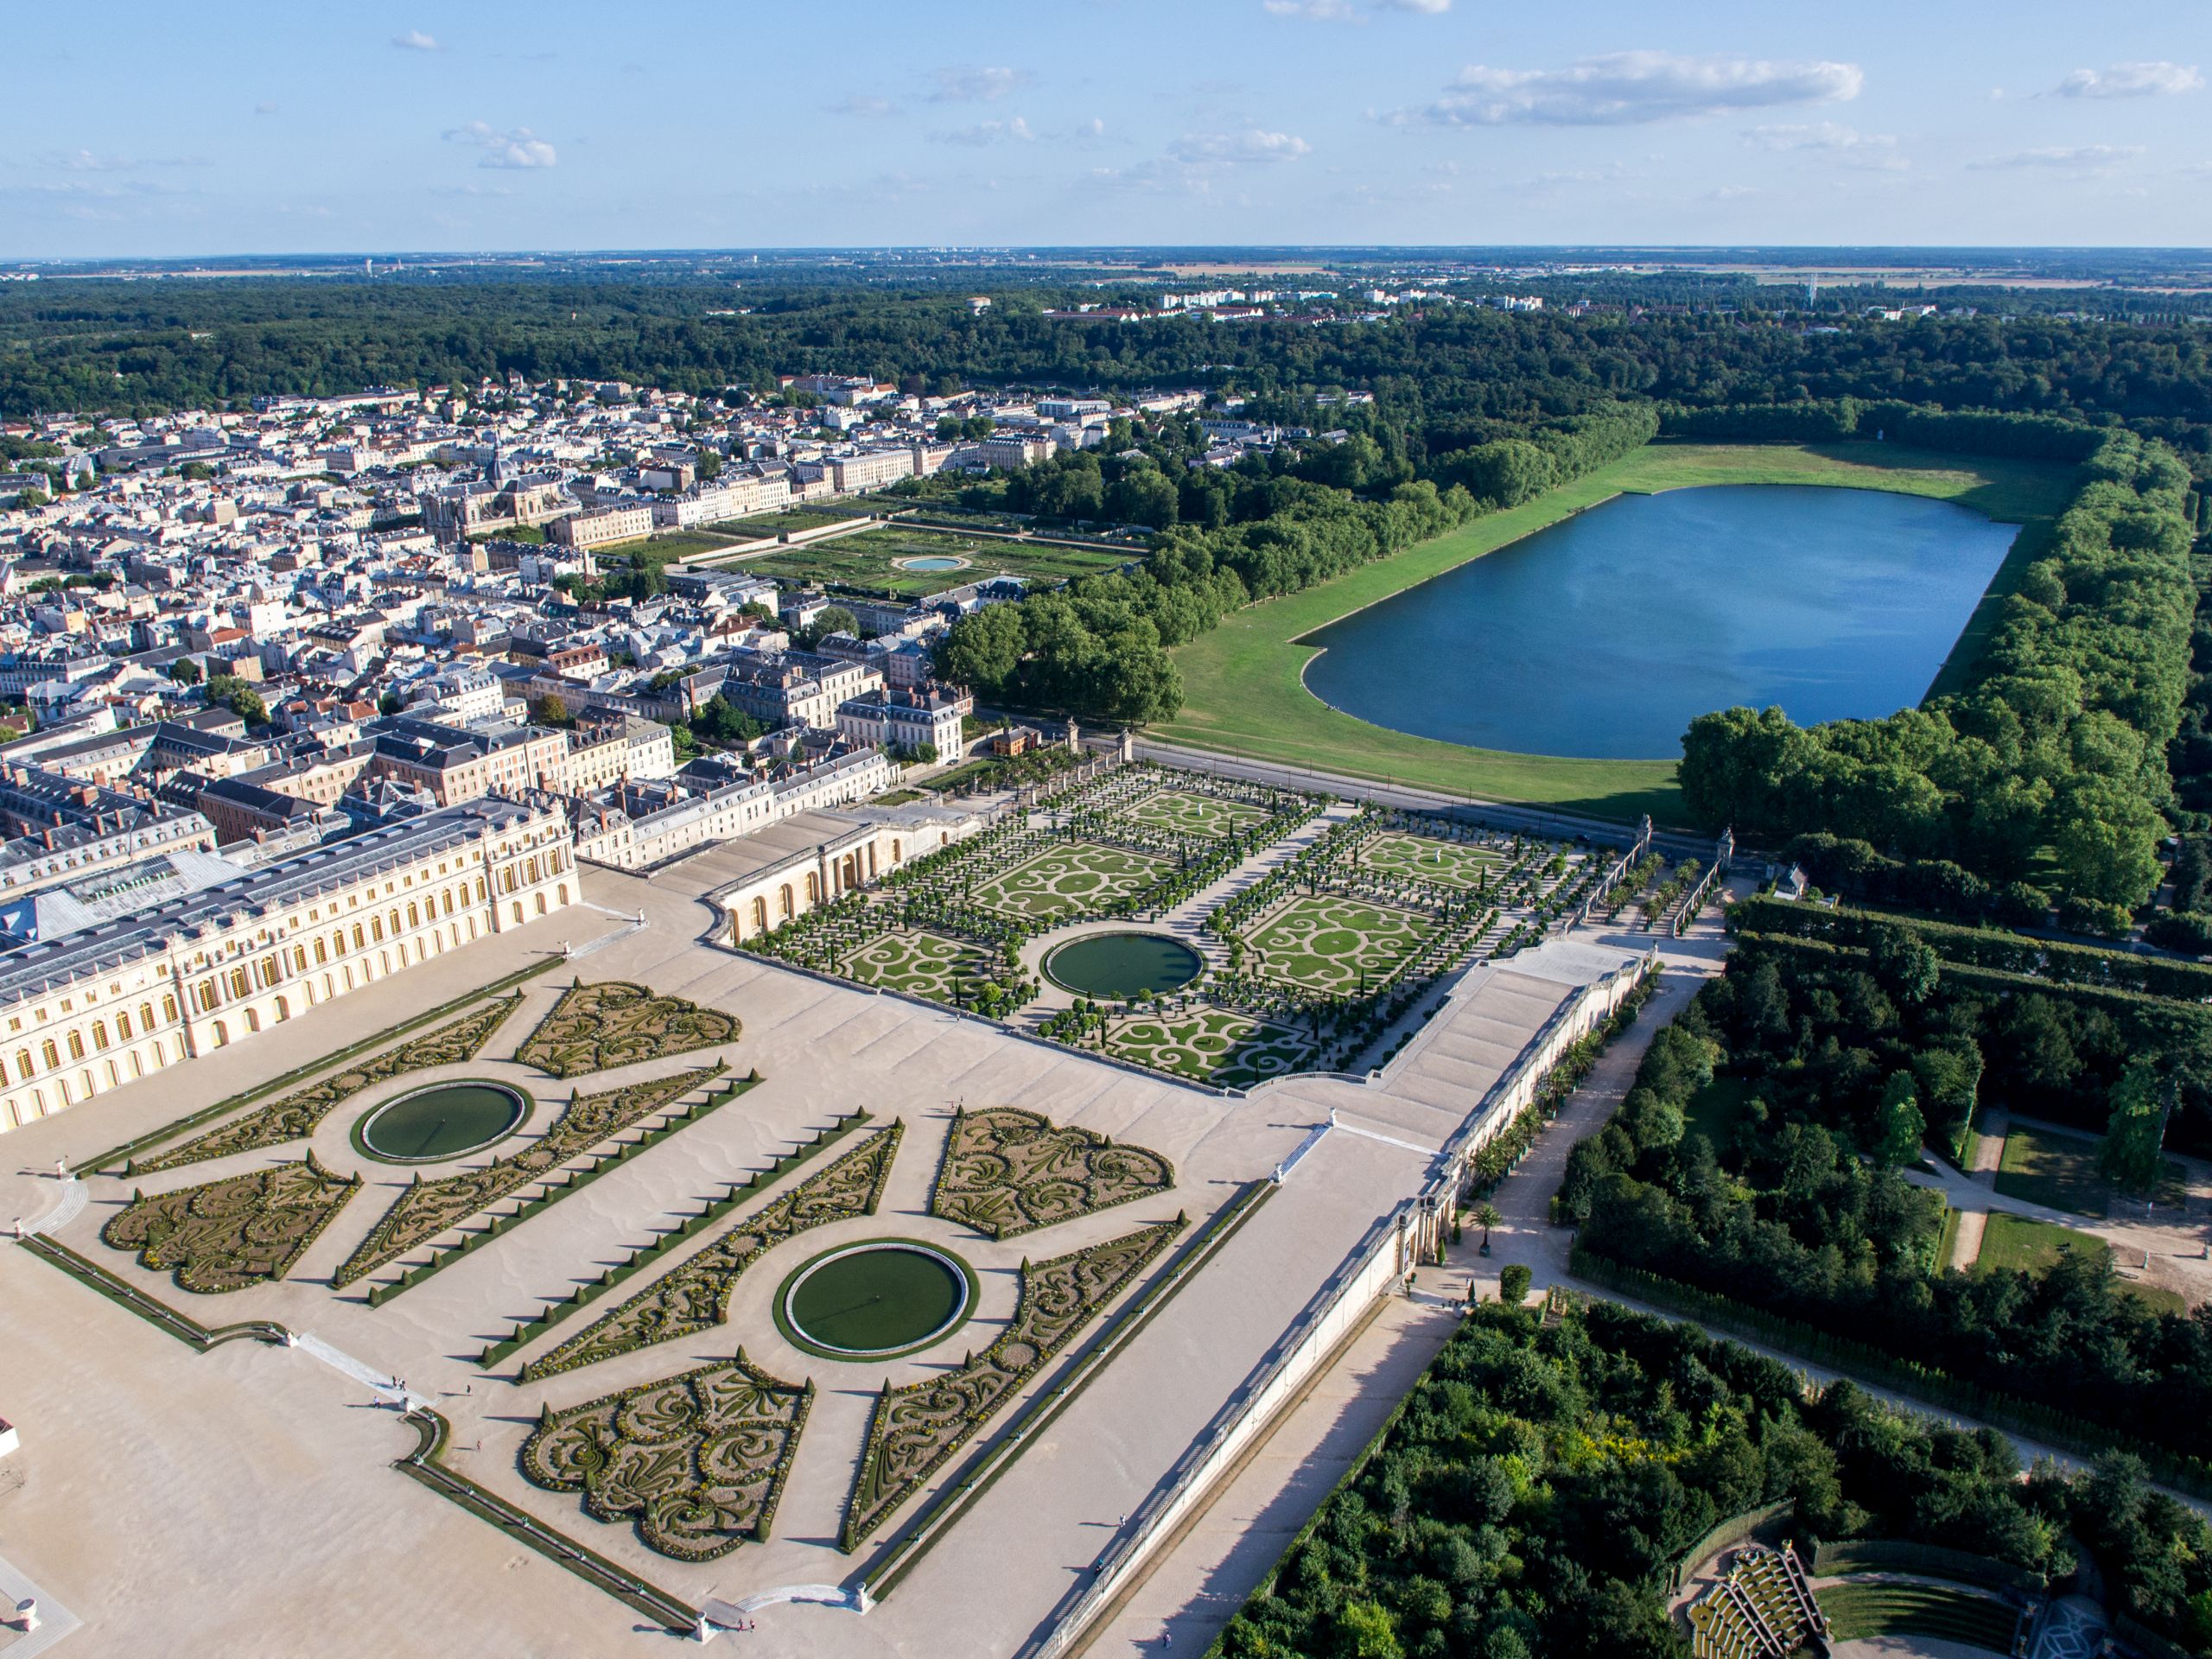
[[[1995,1433],[1807,1396],[1785,1365],[1610,1303],[1475,1310],[1371,1458],[1230,1621],[1223,1659],[1659,1659],[1683,1553],[1790,1504],[1790,1535],[1907,1540],[2066,1577],[2208,1650],[2212,1528],[2128,1458],[2062,1475]]]

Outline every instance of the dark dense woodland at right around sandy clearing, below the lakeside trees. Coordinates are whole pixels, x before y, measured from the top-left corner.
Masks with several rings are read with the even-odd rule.
[[[1739,933],[1728,973],[1573,1148],[1559,1217],[1579,1248],[2212,1460],[2212,1312],[2150,1312],[2108,1254],[2062,1254],[2039,1279],[1944,1272],[1942,1206],[1898,1172],[1922,1141],[1955,1146],[1978,1097],[2086,1130],[2143,1124],[2152,1168],[2168,1121],[2174,1146],[2205,1150],[2205,1006],[1966,967],[1878,920],[1851,938]]]

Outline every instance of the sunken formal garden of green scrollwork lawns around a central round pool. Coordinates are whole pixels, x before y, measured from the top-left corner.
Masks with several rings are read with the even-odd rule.
[[[1540,942],[1613,852],[1124,765],[745,949],[1250,1088],[1374,1064],[1427,987]],[[1035,969],[1053,940],[1031,942],[1106,920],[1170,922],[1186,942],[1194,927],[1210,938],[1208,971],[1066,1006]]]

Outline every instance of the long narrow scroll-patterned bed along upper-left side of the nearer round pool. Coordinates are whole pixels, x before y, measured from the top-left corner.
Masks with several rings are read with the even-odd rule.
[[[874,1130],[836,1164],[732,1225],[675,1272],[655,1279],[604,1318],[524,1365],[524,1380],[535,1383],[637,1347],[714,1329],[730,1305],[737,1276],[779,1243],[825,1221],[876,1214],[902,1133],[905,1121]]]

